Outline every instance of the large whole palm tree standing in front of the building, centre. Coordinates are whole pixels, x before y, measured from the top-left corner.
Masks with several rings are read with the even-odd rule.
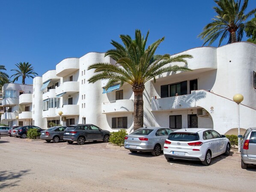
[[[129,83],[134,92],[134,130],[143,127],[143,91],[144,84],[149,80],[156,81],[155,77],[165,72],[191,71],[187,67],[179,67],[178,65],[166,66],[171,62],[184,62],[185,59],[192,58],[188,54],[180,54],[178,56],[170,56],[169,54],[155,55],[155,51],[159,44],[164,41],[164,37],[155,41],[148,48],[146,38],[141,35],[140,30],[135,31],[135,39],[132,40],[129,35],[120,35],[122,44],[116,41],[111,42],[115,49],[108,50],[105,56],[110,56],[116,60],[117,65],[110,63],[96,63],[90,65],[88,70],[95,69],[95,74],[89,78],[89,83],[95,83],[98,80],[108,80],[106,87],[120,83]]]

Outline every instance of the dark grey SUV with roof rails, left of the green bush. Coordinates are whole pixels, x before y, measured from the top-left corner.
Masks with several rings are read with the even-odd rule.
[[[78,145],[83,145],[85,141],[103,140],[109,141],[110,132],[102,130],[93,124],[74,124],[69,125],[65,131],[63,140],[68,143],[77,142]]]

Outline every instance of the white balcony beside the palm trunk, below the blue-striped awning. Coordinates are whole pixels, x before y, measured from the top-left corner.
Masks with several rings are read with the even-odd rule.
[[[122,99],[102,103],[101,109],[103,114],[117,112],[134,112],[134,100]]]

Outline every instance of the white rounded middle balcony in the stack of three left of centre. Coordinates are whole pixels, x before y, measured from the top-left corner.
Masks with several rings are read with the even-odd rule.
[[[65,95],[70,95],[79,92],[79,82],[78,81],[67,81],[63,85],[56,88],[56,95],[65,93]]]

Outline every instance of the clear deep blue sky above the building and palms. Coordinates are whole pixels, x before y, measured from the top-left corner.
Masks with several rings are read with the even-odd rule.
[[[197,35],[216,15],[215,5],[213,0],[0,0],[0,65],[11,76],[16,63],[29,62],[42,76],[67,57],[113,48],[110,41],[120,41],[120,34],[134,38],[135,29],[150,31],[149,44],[165,37],[158,54],[201,47]],[[250,0],[247,11],[255,7]]]

